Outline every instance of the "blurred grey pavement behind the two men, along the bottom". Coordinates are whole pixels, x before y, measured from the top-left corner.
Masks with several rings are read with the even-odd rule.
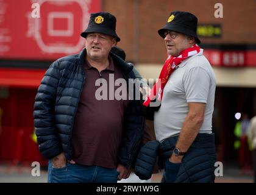
[[[41,168],[35,172],[32,166],[10,166],[0,163],[0,183],[45,183],[47,182],[47,169]],[[34,176],[32,176],[34,175]],[[223,166],[223,176],[216,177],[216,183],[252,183],[252,169],[239,169],[235,164]],[[159,183],[162,172],[153,174],[152,182]]]

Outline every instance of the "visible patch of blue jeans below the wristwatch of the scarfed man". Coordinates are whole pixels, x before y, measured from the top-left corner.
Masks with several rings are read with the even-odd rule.
[[[179,172],[181,163],[171,163],[169,158],[165,161],[165,172],[163,174],[166,183],[174,183]]]

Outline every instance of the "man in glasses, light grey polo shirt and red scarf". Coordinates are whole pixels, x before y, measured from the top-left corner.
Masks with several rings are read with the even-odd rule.
[[[161,106],[154,113],[155,135],[173,147],[165,161],[166,182],[214,182],[216,161],[212,114],[216,79],[212,66],[197,44],[197,18],[188,12],[171,12],[158,30],[164,38],[168,59],[144,102],[157,97]],[[155,90],[155,92],[154,92]],[[154,94],[155,93],[155,94]]]

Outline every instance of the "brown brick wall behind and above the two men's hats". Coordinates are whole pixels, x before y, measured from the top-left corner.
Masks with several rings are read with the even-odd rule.
[[[217,2],[223,5],[223,18],[214,16]],[[102,10],[116,16],[118,45],[135,63],[163,63],[165,45],[157,30],[172,10],[191,12],[199,23],[221,24],[221,38],[201,38],[202,43],[256,44],[255,0],[102,0]]]

